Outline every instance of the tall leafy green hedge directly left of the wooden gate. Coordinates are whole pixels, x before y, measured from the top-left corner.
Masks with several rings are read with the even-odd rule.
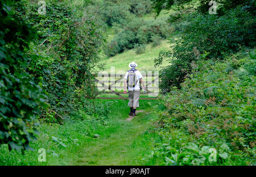
[[[63,121],[56,113],[68,115],[74,111],[78,93],[85,98],[95,95],[91,72],[97,65],[102,43],[100,28],[93,16],[82,14],[64,2],[47,2],[46,15],[39,15],[39,6],[29,1],[17,6],[26,7],[22,14],[39,36],[30,54],[41,57],[31,60],[27,70],[48,93],[50,109],[41,117],[54,116],[56,122]]]

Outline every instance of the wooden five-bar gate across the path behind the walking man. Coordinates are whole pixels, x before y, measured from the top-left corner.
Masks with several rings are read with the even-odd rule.
[[[122,96],[123,91],[123,83],[125,74],[98,74],[97,76],[94,74],[94,82],[96,82],[96,86],[98,90],[100,90],[100,95],[102,94],[112,94],[117,95],[118,97],[101,97],[97,96],[97,99],[128,99],[127,97]],[[156,74],[143,74],[143,81],[146,86],[146,91],[141,91],[141,96],[139,99],[141,100],[154,100],[157,98],[158,93],[158,83],[159,83],[159,75]],[[154,92],[152,92],[154,90]],[[154,94],[156,96],[154,96]],[[147,96],[150,95],[150,96]],[[147,96],[147,97],[145,97]]]

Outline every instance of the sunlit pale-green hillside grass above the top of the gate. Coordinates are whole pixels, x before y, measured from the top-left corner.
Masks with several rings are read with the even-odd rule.
[[[152,47],[152,44],[146,45],[145,53],[136,54],[134,49],[127,50],[123,53],[117,54],[114,57],[102,58],[101,63],[106,64],[105,70],[110,73],[110,67],[115,67],[115,73],[118,71],[129,70],[129,63],[135,61],[138,66],[137,69],[141,71],[158,71],[160,67],[155,68],[154,60],[159,56],[161,50],[169,50],[170,44],[167,40],[163,40],[162,44],[158,47]],[[165,60],[162,66],[167,66],[169,62]]]

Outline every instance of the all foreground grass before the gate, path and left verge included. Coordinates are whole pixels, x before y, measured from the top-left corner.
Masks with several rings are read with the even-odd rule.
[[[99,103],[109,100],[97,100]],[[35,151],[24,155],[17,151],[8,152],[7,146],[0,147],[0,165],[156,165],[157,161],[142,161],[151,154],[155,133],[150,132],[150,120],[155,119],[148,102],[141,100],[138,116],[127,121],[127,100],[117,100],[110,110],[108,125],[90,125],[84,121],[67,121],[64,125],[42,124],[38,141],[31,146]],[[118,110],[118,111],[117,111]],[[99,138],[86,136],[85,132],[100,134]],[[57,137],[67,147],[52,140]],[[77,140],[76,140],[77,139]],[[38,149],[46,149],[46,162],[38,161]]]

